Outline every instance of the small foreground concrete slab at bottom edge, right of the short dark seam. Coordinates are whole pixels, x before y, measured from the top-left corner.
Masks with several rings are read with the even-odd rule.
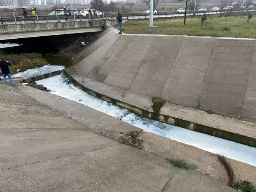
[[[184,182],[186,181],[186,182]],[[175,190],[174,190],[175,189]],[[226,183],[220,183],[211,176],[196,171],[179,169],[175,171],[171,180],[162,192],[236,192]]]

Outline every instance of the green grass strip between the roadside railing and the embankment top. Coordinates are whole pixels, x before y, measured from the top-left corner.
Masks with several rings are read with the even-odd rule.
[[[221,36],[237,38],[256,38],[256,17],[214,17],[209,16],[201,27],[201,18],[155,19],[149,27],[149,20],[129,20],[123,24],[123,32],[131,34],[164,34],[189,36]]]

